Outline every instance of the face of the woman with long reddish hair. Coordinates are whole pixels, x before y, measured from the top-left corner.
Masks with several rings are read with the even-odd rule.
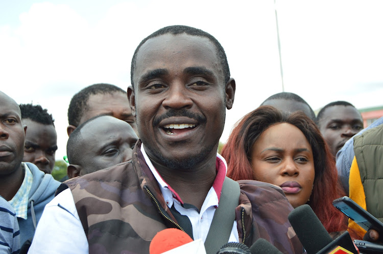
[[[266,129],[251,150],[254,179],[280,186],[290,204],[305,204],[313,190],[313,151],[297,127],[280,123]]]

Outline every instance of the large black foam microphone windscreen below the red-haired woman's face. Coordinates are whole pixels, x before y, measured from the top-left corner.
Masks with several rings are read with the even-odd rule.
[[[309,205],[295,208],[289,214],[289,221],[307,254],[317,253],[332,242],[332,238]]]

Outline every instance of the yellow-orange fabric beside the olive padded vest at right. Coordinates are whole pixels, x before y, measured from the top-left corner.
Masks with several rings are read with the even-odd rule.
[[[352,160],[351,168],[350,168],[350,178],[348,179],[348,183],[350,186],[350,199],[355,201],[358,205],[360,205],[363,209],[367,210],[366,206],[366,195],[363,188],[361,174],[359,172],[359,167],[354,156]],[[353,232],[357,233],[358,236],[363,238],[367,231],[360,227],[360,225],[356,224],[353,220],[348,219],[348,228]]]

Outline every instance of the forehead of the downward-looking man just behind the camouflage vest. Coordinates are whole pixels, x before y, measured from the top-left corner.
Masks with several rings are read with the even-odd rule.
[[[110,116],[103,116],[87,123],[80,131],[83,142],[92,140],[99,145],[104,145],[103,141],[118,136],[135,137],[133,128],[125,121]],[[97,136],[97,140],[95,140]]]

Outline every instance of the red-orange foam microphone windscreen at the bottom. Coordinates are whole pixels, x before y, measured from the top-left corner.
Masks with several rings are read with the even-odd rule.
[[[149,253],[160,254],[189,242],[193,242],[193,239],[185,232],[179,229],[164,229],[154,236]]]

